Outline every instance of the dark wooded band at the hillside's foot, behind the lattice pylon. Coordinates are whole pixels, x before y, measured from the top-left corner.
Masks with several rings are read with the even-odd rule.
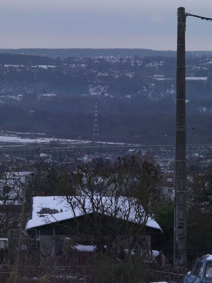
[[[66,100],[67,101],[67,100]],[[69,100],[70,102],[71,100]],[[95,100],[94,100],[95,101]],[[78,101],[79,102],[79,101]],[[84,101],[85,102],[85,101]],[[175,115],[171,113],[149,113],[129,114],[120,110],[118,101],[113,104],[110,111],[99,105],[99,134],[102,141],[135,142],[145,144],[174,144],[175,143]],[[71,104],[71,103],[70,103]],[[94,103],[77,111],[77,100],[72,100],[72,106],[60,104],[48,104],[42,101],[35,105],[35,112],[30,115],[28,106],[0,107],[1,130],[18,132],[42,132],[49,136],[59,138],[93,139]],[[57,107],[56,107],[57,105]],[[112,106],[112,105],[111,105]],[[109,104],[110,108],[110,104]],[[119,108],[119,110],[118,110]],[[102,111],[101,111],[102,109]],[[117,111],[116,111],[117,110]],[[174,109],[173,109],[174,111]],[[202,130],[211,127],[208,115],[188,115],[187,124],[190,127]],[[188,143],[209,143],[211,134],[188,128]]]

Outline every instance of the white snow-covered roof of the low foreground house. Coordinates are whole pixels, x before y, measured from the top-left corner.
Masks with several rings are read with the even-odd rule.
[[[79,201],[84,201],[84,208],[86,214],[92,213],[92,205],[89,198],[77,197]],[[135,199],[130,199],[132,203],[135,203]],[[76,203],[77,201],[75,201]],[[94,202],[98,202],[98,213],[102,213],[108,216],[115,216],[117,218],[125,219],[131,222],[142,223],[141,215],[143,208],[140,205],[135,207],[131,205],[129,210],[129,198],[119,197],[118,200],[113,197],[107,196],[94,196]],[[73,202],[74,203],[74,202]],[[116,212],[114,212],[116,211]],[[75,214],[75,216],[74,216]],[[33,211],[32,219],[26,223],[26,229],[33,229],[35,227],[43,226],[50,223],[56,223],[63,220],[68,220],[74,217],[85,215],[81,205],[74,205],[72,210],[66,197],[63,196],[36,196],[33,197]],[[150,216],[147,219],[146,226],[155,229],[162,230],[160,225],[153,220]]]

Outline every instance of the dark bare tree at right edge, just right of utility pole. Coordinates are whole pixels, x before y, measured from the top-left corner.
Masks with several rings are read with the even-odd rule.
[[[187,182],[188,255],[191,258],[212,252],[212,166],[208,160],[201,160]]]

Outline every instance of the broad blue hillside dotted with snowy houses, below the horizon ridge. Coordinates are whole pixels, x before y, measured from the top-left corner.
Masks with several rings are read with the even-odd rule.
[[[189,56],[186,75],[188,142],[209,143],[212,56]],[[90,140],[97,102],[101,140],[174,144],[175,83],[176,57],[0,54],[1,131]]]

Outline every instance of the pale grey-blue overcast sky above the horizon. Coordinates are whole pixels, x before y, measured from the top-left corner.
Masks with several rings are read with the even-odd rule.
[[[0,0],[0,48],[176,50],[180,6],[212,17],[211,0]],[[187,17],[187,50],[212,50],[211,35]]]

